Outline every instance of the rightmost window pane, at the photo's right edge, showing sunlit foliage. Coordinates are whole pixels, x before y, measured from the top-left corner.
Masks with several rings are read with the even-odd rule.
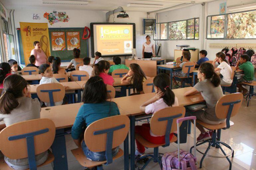
[[[227,15],[227,39],[256,38],[256,11]]]

